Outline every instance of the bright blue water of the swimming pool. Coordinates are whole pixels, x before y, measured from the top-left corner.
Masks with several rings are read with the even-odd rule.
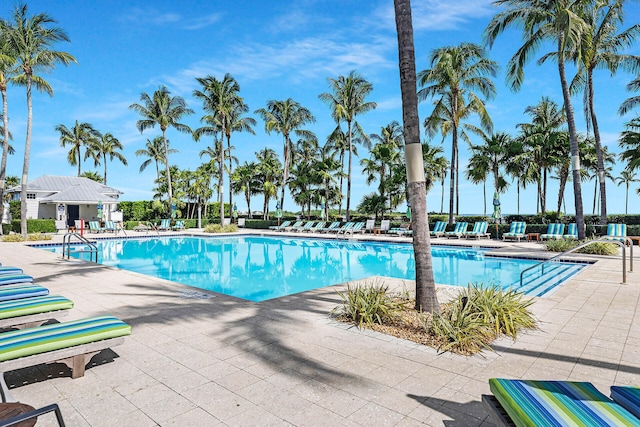
[[[159,237],[97,242],[101,264],[251,301],[265,301],[370,276],[415,279],[413,246],[275,237]],[[43,249],[62,253],[60,246]],[[82,246],[73,249],[81,250]],[[432,247],[438,284],[470,282],[519,287],[520,272],[536,260],[497,258],[486,250]],[[87,253],[73,253],[89,259]],[[541,296],[583,264],[553,263],[526,274],[527,295]]]

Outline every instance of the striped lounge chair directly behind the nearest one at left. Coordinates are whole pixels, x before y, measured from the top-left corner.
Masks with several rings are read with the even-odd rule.
[[[47,295],[0,302],[0,328],[34,327],[50,319],[66,316],[73,302]]]

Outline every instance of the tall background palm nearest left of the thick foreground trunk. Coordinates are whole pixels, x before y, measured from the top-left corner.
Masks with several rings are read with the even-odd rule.
[[[347,168],[347,213],[346,219],[351,219],[351,168],[353,163],[352,146],[355,136],[368,145],[369,137],[362,129],[356,118],[376,108],[377,104],[365,101],[366,97],[373,91],[373,85],[366,81],[360,74],[351,71],[346,77],[339,76],[337,79],[329,78],[331,93],[325,92],[318,95],[318,98],[329,105],[331,115],[340,127],[341,122],[347,124],[347,143],[349,153],[349,166]]]

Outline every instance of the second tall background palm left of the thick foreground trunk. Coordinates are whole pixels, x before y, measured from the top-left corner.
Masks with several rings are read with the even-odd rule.
[[[291,163],[291,134],[294,133],[301,138],[313,138],[313,132],[301,128],[306,124],[315,123],[316,118],[311,111],[291,98],[284,101],[267,101],[267,108],[260,108],[255,111],[255,114],[264,120],[264,129],[267,134],[274,131],[282,134],[284,138],[284,165],[280,194],[280,207],[284,208],[284,189],[289,180]]]

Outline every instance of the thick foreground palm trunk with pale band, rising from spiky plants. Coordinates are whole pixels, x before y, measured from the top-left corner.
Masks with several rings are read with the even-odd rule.
[[[440,304],[436,294],[431,242],[427,218],[427,191],[422,165],[420,119],[416,95],[416,58],[413,46],[411,2],[394,0],[402,92],[402,121],[404,123],[407,187],[411,200],[413,221],[413,251],[416,262],[416,310],[438,313]]]

